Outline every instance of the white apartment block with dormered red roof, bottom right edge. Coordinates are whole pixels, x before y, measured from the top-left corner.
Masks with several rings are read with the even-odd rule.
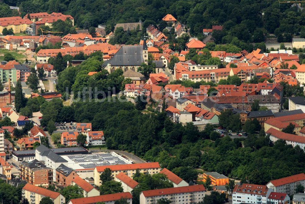
[[[242,184],[235,185],[232,192],[232,204],[239,203],[267,203],[267,198],[273,192],[265,185]]]

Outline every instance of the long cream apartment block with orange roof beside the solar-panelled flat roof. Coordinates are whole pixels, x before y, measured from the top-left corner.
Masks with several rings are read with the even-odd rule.
[[[137,169],[139,169],[140,173],[143,174],[157,174],[161,170],[161,167],[158,162],[97,166],[94,168],[95,185],[102,185],[102,181],[100,180],[99,176],[105,171],[106,168],[112,170],[112,177],[116,177],[121,172],[125,173],[129,177],[132,177],[132,175],[135,174]]]

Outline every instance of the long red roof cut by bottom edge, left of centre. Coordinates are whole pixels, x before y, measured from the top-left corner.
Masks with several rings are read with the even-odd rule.
[[[87,198],[76,198],[76,199],[71,199],[70,202],[72,204],[91,204],[97,202],[120,200],[122,197],[127,199],[132,199],[132,195],[130,194],[130,192],[124,192],[124,193],[113,193],[108,195],[97,195]]]

